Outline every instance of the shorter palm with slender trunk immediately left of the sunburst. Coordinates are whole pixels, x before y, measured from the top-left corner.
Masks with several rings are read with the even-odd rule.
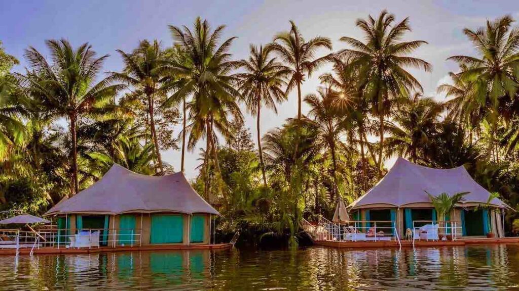
[[[340,93],[330,88],[318,88],[318,94],[308,94],[305,96],[305,103],[310,106],[308,116],[312,120],[308,122],[317,130],[318,147],[330,151],[332,157],[332,176],[335,182],[331,200],[335,201],[338,197],[337,182],[337,145],[340,143],[339,137],[343,132],[344,123],[340,119],[340,107],[336,106],[337,99],[342,99]]]

